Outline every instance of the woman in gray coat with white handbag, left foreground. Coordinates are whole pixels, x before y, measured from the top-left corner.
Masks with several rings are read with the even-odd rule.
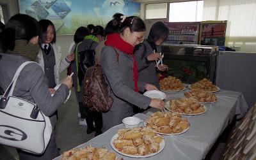
[[[29,15],[14,15],[6,24],[6,28],[1,33],[3,52],[0,53],[0,86],[4,91],[23,62],[35,61],[39,48],[37,45],[39,31],[38,22]],[[22,69],[13,96],[36,103],[36,106],[50,118],[53,131],[44,154],[35,155],[17,149],[20,160],[53,159],[59,155],[54,138],[57,120],[54,112],[65,101],[71,87],[72,79],[67,77],[54,96],[51,96],[47,77],[38,64],[30,63]]]

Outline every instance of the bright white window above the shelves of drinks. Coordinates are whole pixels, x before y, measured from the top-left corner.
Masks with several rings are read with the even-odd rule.
[[[169,22],[199,22],[203,17],[204,1],[170,3]]]

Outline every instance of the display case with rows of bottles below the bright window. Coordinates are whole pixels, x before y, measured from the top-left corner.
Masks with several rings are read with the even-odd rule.
[[[169,35],[165,43],[198,44],[199,22],[165,22]]]

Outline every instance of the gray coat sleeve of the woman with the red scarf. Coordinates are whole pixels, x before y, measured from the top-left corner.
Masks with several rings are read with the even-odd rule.
[[[119,74],[120,69],[118,68],[116,54],[112,47],[104,47],[102,49],[100,64],[116,97],[141,108],[147,108],[149,106],[151,98],[143,96],[125,85],[125,80]]]

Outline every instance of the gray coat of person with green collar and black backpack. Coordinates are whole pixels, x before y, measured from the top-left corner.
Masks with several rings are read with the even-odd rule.
[[[77,52],[79,52],[81,50],[89,49],[91,44],[92,44],[91,49],[95,50],[98,43],[93,40],[84,40],[82,43],[78,43],[78,45],[76,46]],[[76,48],[74,50],[75,55],[76,55]],[[76,91],[76,99],[78,102],[82,103],[83,102],[83,86],[80,86],[80,92],[77,92],[76,56],[75,56],[74,62],[72,62],[71,68],[72,68],[72,72],[74,73],[74,75],[72,76],[72,80],[73,80],[73,84],[74,84],[74,89]],[[82,84],[83,84],[83,82],[82,82]]]

